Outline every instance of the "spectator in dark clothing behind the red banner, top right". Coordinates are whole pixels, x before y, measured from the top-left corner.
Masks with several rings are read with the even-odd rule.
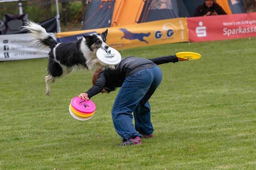
[[[204,4],[196,8],[194,16],[211,16],[211,15],[225,15],[227,14],[221,6],[214,3],[213,0],[205,0]]]

